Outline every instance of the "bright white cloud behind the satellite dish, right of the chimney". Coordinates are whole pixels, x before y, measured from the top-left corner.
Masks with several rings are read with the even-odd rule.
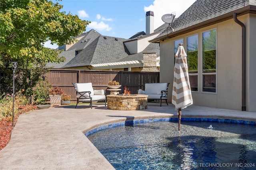
[[[144,11],[154,12],[154,29],[156,29],[164,24],[164,21],[162,21],[164,14],[176,12],[175,18],[178,18],[195,1],[196,0],[155,0],[150,6],[144,6]]]

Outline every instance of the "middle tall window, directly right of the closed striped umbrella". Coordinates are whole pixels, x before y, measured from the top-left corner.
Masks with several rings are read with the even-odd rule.
[[[190,87],[198,91],[198,35],[187,37],[187,62]]]

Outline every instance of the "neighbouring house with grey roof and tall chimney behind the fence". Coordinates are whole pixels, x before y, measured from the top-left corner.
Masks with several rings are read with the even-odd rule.
[[[146,12],[146,33],[138,32],[130,39],[104,36],[91,29],[76,37],[72,45],[58,50],[64,63],[48,63],[48,67],[82,70],[120,70],[159,72],[160,47],[149,41],[156,38],[162,26],[154,30],[154,13]]]

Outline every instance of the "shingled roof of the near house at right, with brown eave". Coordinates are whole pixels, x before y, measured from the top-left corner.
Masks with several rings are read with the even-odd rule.
[[[179,18],[176,18],[171,27],[167,25],[158,37],[150,42],[158,43],[164,38],[175,37],[198,28],[231,19],[233,13],[255,13],[256,0],[197,0]]]

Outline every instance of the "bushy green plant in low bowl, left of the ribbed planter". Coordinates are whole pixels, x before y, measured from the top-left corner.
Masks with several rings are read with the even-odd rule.
[[[42,79],[40,79],[36,87],[34,87],[31,98],[34,101],[33,103],[37,105],[38,109],[46,109],[51,106],[48,94],[48,90],[50,87],[50,82],[48,80],[43,81]]]

